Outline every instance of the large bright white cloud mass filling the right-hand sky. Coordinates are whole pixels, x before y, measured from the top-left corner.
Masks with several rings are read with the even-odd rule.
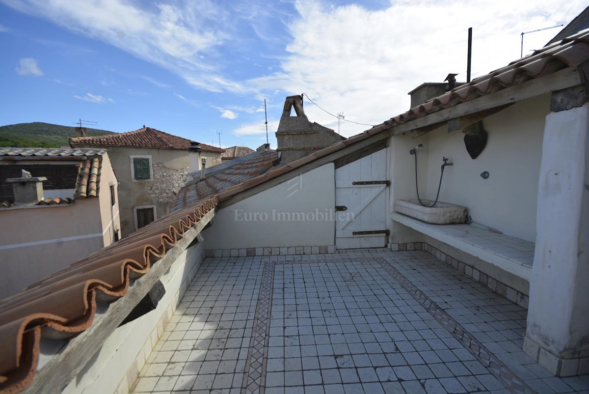
[[[472,75],[487,74],[519,58],[520,33],[567,24],[585,2],[448,0],[396,1],[379,11],[359,5],[299,0],[289,25],[293,40],[282,70],[248,81],[254,90],[307,93],[346,120],[378,124],[409,109],[406,94],[448,73],[466,79],[468,28],[474,27]],[[525,35],[524,54],[542,47],[559,29]],[[529,37],[528,37],[529,36]],[[305,101],[312,122],[337,130],[337,119]],[[345,121],[345,136],[366,130]]]

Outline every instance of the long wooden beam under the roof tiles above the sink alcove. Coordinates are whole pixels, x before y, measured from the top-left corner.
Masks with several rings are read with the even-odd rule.
[[[540,96],[545,93],[552,93],[552,91],[565,89],[567,87],[577,86],[580,83],[581,76],[578,73],[577,68],[567,67],[564,68],[564,70],[548,74],[545,77],[535,78],[496,91],[495,93],[487,94],[486,96],[481,96],[474,100],[469,100],[465,103],[410,120],[409,122],[399,124],[398,126],[392,126],[390,130],[393,135],[411,132],[411,130],[429,126],[430,124],[448,122],[448,120],[456,117],[477,113],[479,111],[488,110],[509,103],[516,103],[517,101],[525,100],[526,98]]]

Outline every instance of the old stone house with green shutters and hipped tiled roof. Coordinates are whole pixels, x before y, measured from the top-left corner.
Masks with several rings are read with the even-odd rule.
[[[118,176],[121,235],[170,212],[170,202],[186,175],[221,162],[223,149],[142,127],[133,132],[70,139],[72,147],[107,149]]]

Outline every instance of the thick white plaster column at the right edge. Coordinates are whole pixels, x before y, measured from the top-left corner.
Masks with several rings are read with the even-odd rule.
[[[589,104],[546,117],[524,352],[557,376],[589,373],[588,130]]]

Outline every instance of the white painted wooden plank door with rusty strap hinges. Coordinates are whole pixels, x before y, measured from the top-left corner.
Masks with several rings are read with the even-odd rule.
[[[385,182],[386,149],[335,170],[336,249],[386,247]]]

